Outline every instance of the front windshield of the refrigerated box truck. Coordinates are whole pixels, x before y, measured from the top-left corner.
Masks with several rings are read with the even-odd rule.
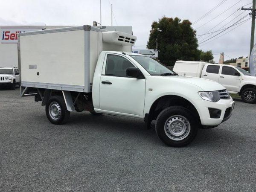
[[[174,71],[168,69],[159,61],[150,57],[141,55],[130,55],[134,58],[151,76],[173,76],[177,75]]]

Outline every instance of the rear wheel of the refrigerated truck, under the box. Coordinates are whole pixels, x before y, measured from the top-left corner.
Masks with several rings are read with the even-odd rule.
[[[55,116],[55,118],[50,112],[50,106],[58,110],[58,115]],[[67,111],[67,107],[62,96],[52,96],[45,106],[45,113],[49,121],[55,125],[66,123],[70,117],[70,111]]]

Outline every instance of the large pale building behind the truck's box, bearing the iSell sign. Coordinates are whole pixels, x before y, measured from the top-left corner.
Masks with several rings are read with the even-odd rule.
[[[70,26],[0,26],[0,67],[18,67],[18,33],[57,29]],[[106,31],[121,31],[132,35],[131,26],[98,26]]]

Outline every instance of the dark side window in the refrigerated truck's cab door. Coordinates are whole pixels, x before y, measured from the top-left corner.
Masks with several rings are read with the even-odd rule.
[[[128,77],[126,69],[134,65],[126,58],[119,55],[108,55],[106,62],[106,76]]]

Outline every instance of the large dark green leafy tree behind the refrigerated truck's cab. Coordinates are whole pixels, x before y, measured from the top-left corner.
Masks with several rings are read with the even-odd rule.
[[[173,66],[177,59],[184,61],[200,61],[201,52],[198,50],[196,31],[192,29],[189,20],[181,20],[177,17],[162,17],[154,21],[147,44],[148,49],[155,48],[157,39],[159,60]],[[162,30],[162,32],[157,29]]]

